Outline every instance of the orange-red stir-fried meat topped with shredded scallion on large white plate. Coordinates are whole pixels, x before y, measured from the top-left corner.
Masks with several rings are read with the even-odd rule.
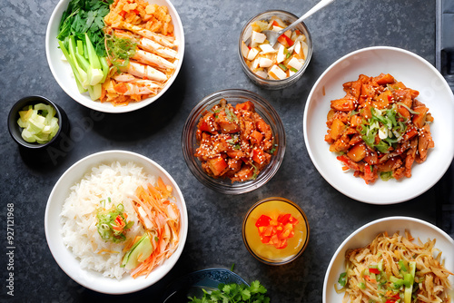
[[[325,141],[343,169],[351,169],[366,183],[410,178],[413,162],[426,161],[434,147],[429,108],[392,75],[360,74],[357,81],[343,84],[346,95],[331,101]]]

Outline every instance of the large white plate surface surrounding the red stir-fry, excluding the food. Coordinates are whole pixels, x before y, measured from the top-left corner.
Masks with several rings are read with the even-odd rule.
[[[367,185],[354,177],[352,171],[342,171],[337,154],[330,152],[330,145],[324,141],[331,100],[343,97],[342,84],[357,80],[361,73],[392,74],[407,87],[419,91],[418,100],[429,107],[435,119],[430,125],[435,148],[429,151],[427,161],[413,165],[411,178],[379,179]],[[311,161],[332,187],[362,202],[398,203],[428,191],[448,170],[454,157],[454,96],[442,75],[418,55],[387,46],[365,48],[345,55],[321,74],[306,103],[303,131]]]

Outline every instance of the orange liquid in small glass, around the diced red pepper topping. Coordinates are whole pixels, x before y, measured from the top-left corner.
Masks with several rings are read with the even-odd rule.
[[[278,220],[279,215],[289,213],[291,217],[298,220],[298,224],[293,228],[294,236],[286,239],[287,246],[277,249],[274,245],[262,243],[259,230],[255,225],[257,220],[262,215],[270,217],[271,220]],[[298,258],[306,249],[309,230],[306,215],[296,203],[284,198],[271,197],[257,202],[246,214],[242,224],[242,239],[256,259],[266,264],[281,265]]]

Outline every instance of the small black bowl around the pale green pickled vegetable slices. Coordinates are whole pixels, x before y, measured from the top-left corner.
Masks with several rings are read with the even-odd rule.
[[[54,135],[51,141],[46,143],[30,143],[26,142],[24,138],[22,138],[22,128],[17,124],[17,120],[19,119],[19,112],[22,111],[28,105],[35,105],[37,103],[44,103],[47,105],[51,105],[55,109],[55,116],[58,118],[58,132]],[[64,110],[58,106],[57,104],[53,103],[49,99],[39,96],[27,96],[22,98],[18,102],[16,102],[11,111],[8,114],[8,131],[11,134],[11,137],[15,140],[15,142],[19,145],[21,153],[30,153],[35,156],[41,156],[41,154],[45,153],[45,150],[49,146],[55,146],[60,142],[60,139],[64,133],[69,131],[69,120],[64,112]]]

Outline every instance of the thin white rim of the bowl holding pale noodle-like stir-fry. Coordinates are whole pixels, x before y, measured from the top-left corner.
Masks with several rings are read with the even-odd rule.
[[[345,246],[347,245],[347,243],[349,243],[350,239],[355,238],[356,235],[359,234],[362,230],[367,230],[368,228],[370,228],[380,222],[395,221],[395,220],[408,220],[410,222],[416,222],[421,225],[424,225],[424,226],[428,227],[429,229],[436,230],[446,240],[448,240],[448,242],[454,247],[454,239],[452,239],[447,232],[445,232],[444,230],[441,230],[438,226],[435,226],[432,223],[429,223],[428,221],[425,221],[425,220],[421,220],[421,219],[417,219],[417,218],[413,218],[413,217],[407,217],[407,216],[391,216],[391,217],[385,217],[385,218],[381,218],[381,219],[377,219],[377,220],[372,220],[369,223],[366,223],[363,226],[361,226],[358,230],[353,231],[350,234],[350,236],[348,236],[346,239],[344,239],[342,241],[339,248],[336,249],[336,251],[332,255],[331,261],[328,265],[328,268],[326,269],[325,278],[323,279],[323,303],[327,303],[326,302],[326,290],[328,288],[327,282],[328,282],[328,278],[330,277],[332,266],[333,266],[335,260],[337,259],[339,253],[341,252],[342,249],[345,249]],[[410,232],[411,232],[411,230],[410,230]],[[412,234],[412,236],[414,236],[414,235]],[[372,241],[372,239],[370,239],[370,241]]]

